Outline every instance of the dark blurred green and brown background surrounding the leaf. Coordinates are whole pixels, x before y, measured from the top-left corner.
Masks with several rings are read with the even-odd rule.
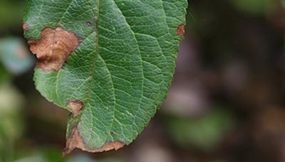
[[[0,162],[285,161],[285,1],[192,0],[170,93],[119,151],[62,158],[68,112],[39,95],[24,0],[0,0]]]

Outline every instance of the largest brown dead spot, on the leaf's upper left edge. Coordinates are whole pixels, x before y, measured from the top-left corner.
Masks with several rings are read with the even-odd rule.
[[[45,28],[40,40],[30,40],[31,52],[38,58],[36,68],[57,71],[61,68],[66,58],[75,50],[80,41],[71,32],[61,27]]]

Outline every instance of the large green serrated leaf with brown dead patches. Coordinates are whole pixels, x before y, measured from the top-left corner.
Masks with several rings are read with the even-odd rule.
[[[27,1],[36,88],[73,112],[64,153],[118,149],[147,126],[170,87],[186,8],[187,0]]]

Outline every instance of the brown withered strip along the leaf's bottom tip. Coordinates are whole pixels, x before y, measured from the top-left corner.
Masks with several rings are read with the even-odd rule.
[[[103,151],[110,151],[113,149],[118,150],[123,146],[125,146],[125,144],[123,144],[122,142],[115,141],[105,144],[105,146],[103,146],[102,148],[98,149],[87,148],[85,141],[83,140],[83,138],[79,133],[78,126],[76,126],[72,129],[71,136],[69,136],[66,139],[66,148],[63,149],[63,156],[66,156],[68,153],[71,153],[71,151],[73,151],[74,148],[80,148],[83,151],[88,151],[91,153],[99,153]]]

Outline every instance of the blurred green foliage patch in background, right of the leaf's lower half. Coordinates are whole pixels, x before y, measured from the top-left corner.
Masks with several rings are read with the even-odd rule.
[[[177,144],[202,151],[211,151],[219,146],[233,125],[231,115],[219,108],[200,117],[169,116],[166,123]]]

